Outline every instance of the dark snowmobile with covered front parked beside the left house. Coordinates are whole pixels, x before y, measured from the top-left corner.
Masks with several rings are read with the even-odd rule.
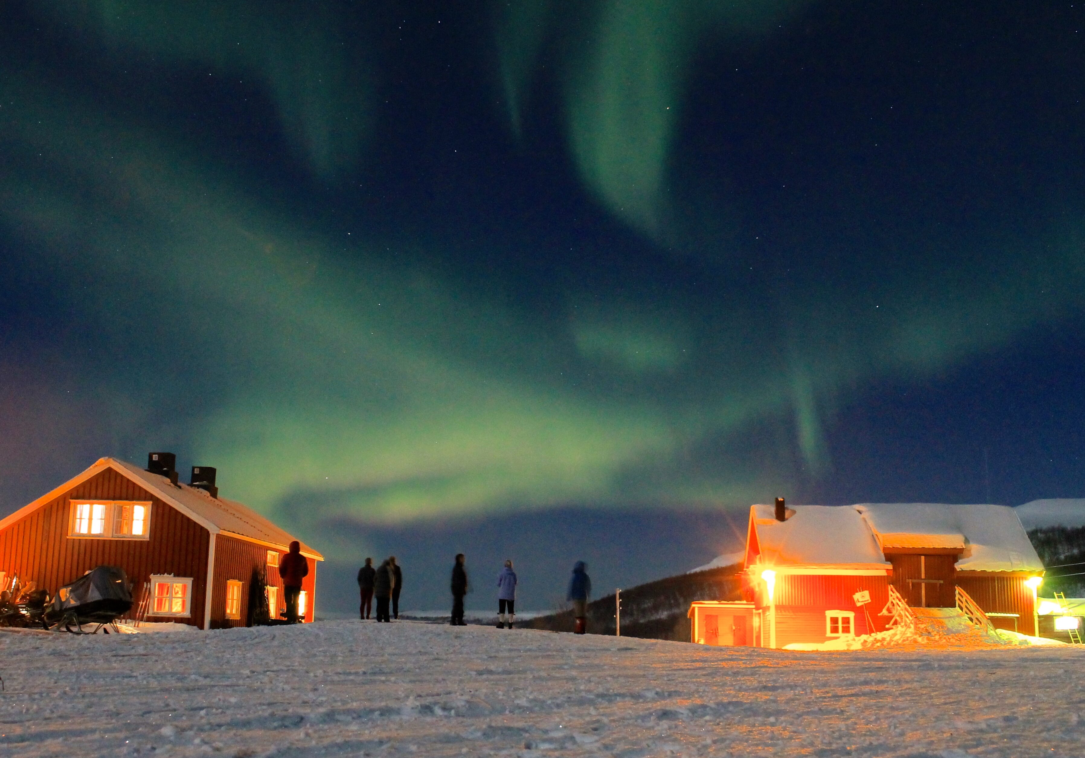
[[[125,569],[98,566],[56,591],[43,622],[54,631],[93,634],[104,630],[108,634],[110,628],[117,631],[116,620],[131,606],[131,582]]]

